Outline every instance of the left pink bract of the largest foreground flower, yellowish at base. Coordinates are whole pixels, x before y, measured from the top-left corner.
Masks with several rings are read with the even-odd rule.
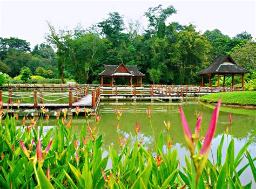
[[[184,131],[184,135],[185,135],[185,140],[186,140],[188,149],[191,152],[191,155],[193,155],[194,154],[194,145],[193,145],[194,141],[192,138],[192,134],[191,134],[190,128],[187,124],[187,120],[184,115],[183,109],[181,107],[179,107],[179,111],[180,111],[180,117],[181,117],[181,123],[183,126],[183,131]]]

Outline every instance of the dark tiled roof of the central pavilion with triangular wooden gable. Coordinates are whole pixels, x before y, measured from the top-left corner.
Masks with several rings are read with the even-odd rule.
[[[104,71],[100,76],[144,76],[142,72],[138,71],[137,65],[126,66],[123,63],[120,65],[104,65]]]

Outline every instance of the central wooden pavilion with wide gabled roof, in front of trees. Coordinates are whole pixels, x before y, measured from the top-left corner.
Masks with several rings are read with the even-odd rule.
[[[122,62],[120,65],[104,65],[104,71],[100,73],[101,76],[101,85],[102,86],[113,86],[115,78],[125,78],[129,79],[131,86],[141,87],[142,86],[142,77],[145,76],[142,72],[138,71],[136,66],[125,66]],[[110,83],[103,83],[104,78],[110,78]],[[133,84],[133,81],[137,79],[137,82]]]

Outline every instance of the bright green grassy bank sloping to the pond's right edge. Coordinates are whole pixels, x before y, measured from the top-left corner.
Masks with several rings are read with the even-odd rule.
[[[199,101],[217,103],[221,97],[221,104],[253,105],[256,106],[256,91],[215,93],[201,96]]]

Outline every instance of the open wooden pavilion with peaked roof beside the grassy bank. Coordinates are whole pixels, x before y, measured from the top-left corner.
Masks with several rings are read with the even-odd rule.
[[[242,87],[244,87],[244,74],[251,73],[248,69],[242,68],[235,64],[234,60],[230,55],[224,55],[221,57],[217,57],[210,66],[206,67],[198,74],[202,77],[202,85],[204,86],[204,75],[209,77],[209,86],[211,87],[211,78],[214,75],[218,75],[217,86],[219,87],[219,79],[220,76],[224,76],[223,86],[225,86],[225,76],[232,76],[232,87],[234,86],[234,75],[242,76]]]

